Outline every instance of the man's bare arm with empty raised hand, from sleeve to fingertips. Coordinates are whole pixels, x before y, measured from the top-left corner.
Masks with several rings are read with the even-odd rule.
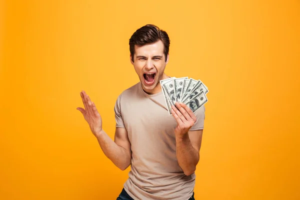
[[[94,102],[84,91],[80,92],[80,96],[85,109],[77,109],[83,114],[102,151],[118,168],[126,169],[131,163],[130,142],[126,129],[116,128],[113,141],[102,129],[102,119]]]

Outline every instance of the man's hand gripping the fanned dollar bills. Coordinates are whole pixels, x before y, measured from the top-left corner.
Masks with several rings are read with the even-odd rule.
[[[191,109],[182,102],[176,102],[171,108],[171,113],[177,121],[177,126],[174,130],[175,135],[183,136],[196,122],[196,116]]]

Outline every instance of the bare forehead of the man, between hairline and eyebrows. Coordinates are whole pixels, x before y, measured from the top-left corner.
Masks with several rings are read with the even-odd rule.
[[[143,46],[135,45],[134,49],[135,55],[163,55],[163,43],[161,40]]]

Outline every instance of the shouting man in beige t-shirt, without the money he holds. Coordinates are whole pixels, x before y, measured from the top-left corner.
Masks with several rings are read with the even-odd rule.
[[[104,154],[121,170],[131,164],[118,200],[194,199],[205,108],[193,113],[176,103],[169,115],[159,83],[169,78],[164,73],[169,43],[167,33],[151,24],[137,29],[129,39],[130,62],[140,81],[117,97],[114,141],[102,129],[94,102],[80,92],[85,109],[77,109]]]

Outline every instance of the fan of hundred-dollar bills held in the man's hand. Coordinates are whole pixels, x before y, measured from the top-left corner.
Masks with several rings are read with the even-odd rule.
[[[208,89],[200,80],[170,77],[160,80],[160,86],[169,114],[171,114],[171,105],[175,102],[183,102],[195,112],[208,101],[206,97]]]

